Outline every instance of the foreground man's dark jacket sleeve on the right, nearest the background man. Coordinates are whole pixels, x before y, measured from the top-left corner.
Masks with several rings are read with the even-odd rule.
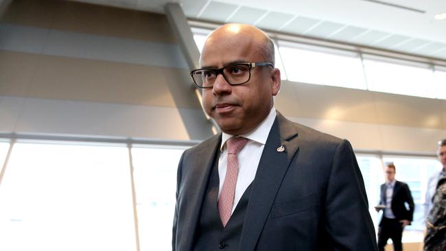
[[[377,250],[364,180],[347,140],[340,142],[333,155],[325,217],[333,250]]]

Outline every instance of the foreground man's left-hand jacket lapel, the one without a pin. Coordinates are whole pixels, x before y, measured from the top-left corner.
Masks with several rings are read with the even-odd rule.
[[[184,247],[182,250],[192,250],[194,235],[200,219],[204,193],[207,189],[207,183],[214,164],[215,155],[218,154],[220,148],[221,138],[222,136],[220,133],[209,139],[208,143],[202,146],[202,150],[196,154],[192,167],[193,171],[188,176],[188,178],[193,181],[186,182],[186,184],[190,184],[191,187],[185,188],[187,195],[184,200],[187,200],[185,203],[190,205],[190,207],[188,207],[190,211],[187,212],[188,224],[185,225],[183,230],[184,236],[182,239],[185,243],[182,245]],[[202,167],[204,167],[204,170],[201,169]]]

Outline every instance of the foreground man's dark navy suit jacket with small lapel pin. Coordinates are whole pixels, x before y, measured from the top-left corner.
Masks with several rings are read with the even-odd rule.
[[[213,136],[180,160],[173,250],[193,248],[220,142],[221,134]],[[277,151],[281,145],[284,152]],[[348,141],[278,112],[252,186],[238,250],[377,250],[364,182]]]

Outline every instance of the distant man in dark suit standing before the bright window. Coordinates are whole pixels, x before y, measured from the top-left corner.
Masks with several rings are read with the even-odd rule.
[[[414,215],[414,200],[408,184],[395,180],[395,165],[388,163],[384,168],[386,183],[381,185],[381,200],[379,204],[385,206],[378,230],[378,249],[384,251],[388,239],[393,241],[395,251],[403,250],[401,237],[403,229],[410,225]],[[406,208],[406,203],[409,208]],[[377,211],[382,208],[376,207]]]

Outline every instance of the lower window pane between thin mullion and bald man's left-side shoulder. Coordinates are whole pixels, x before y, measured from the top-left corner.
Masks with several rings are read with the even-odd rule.
[[[132,149],[141,251],[172,250],[176,169],[183,151]]]

